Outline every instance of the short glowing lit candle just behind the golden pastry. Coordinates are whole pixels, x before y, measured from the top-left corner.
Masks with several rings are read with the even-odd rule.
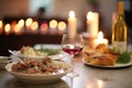
[[[95,40],[95,46],[97,46],[99,44],[106,44],[106,45],[108,45],[108,40],[103,38],[103,34],[102,34],[101,31],[98,33],[98,37]]]

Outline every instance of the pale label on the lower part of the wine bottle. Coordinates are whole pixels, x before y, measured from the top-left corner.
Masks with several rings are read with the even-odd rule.
[[[120,53],[127,51],[127,42],[113,42],[113,47],[116,47]]]

